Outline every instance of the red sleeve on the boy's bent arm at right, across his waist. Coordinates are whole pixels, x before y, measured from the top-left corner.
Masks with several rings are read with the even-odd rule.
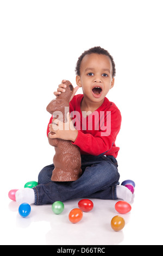
[[[102,130],[96,132],[93,136],[90,133],[78,131],[78,136],[73,144],[77,145],[82,151],[87,154],[98,156],[106,153],[115,145],[116,137],[121,128],[121,113],[118,109],[111,112],[111,127],[109,136],[101,136]]]

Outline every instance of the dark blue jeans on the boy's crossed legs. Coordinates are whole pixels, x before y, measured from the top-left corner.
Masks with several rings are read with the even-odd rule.
[[[116,200],[116,186],[120,174],[114,156],[82,155],[82,176],[76,181],[51,181],[54,165],[44,167],[38,184],[33,188],[35,205],[53,204],[74,198],[99,198]]]

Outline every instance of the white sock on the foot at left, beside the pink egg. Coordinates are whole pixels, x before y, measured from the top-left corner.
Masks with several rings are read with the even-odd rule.
[[[26,188],[23,188],[22,190],[16,191],[15,198],[18,204],[22,204],[22,203],[34,204],[35,192],[32,188],[26,187]]]

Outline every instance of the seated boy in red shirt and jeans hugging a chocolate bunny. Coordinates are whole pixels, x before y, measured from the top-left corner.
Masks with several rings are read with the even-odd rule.
[[[46,166],[39,174],[38,186],[16,192],[18,203],[42,205],[81,197],[131,201],[132,193],[128,188],[118,185],[120,174],[116,157],[120,148],[116,147],[115,141],[121,127],[121,113],[106,98],[114,87],[115,74],[114,59],[101,47],[93,47],[79,57],[76,65],[78,87],[74,94],[79,87],[82,87],[83,94],[73,95],[70,102],[71,117],[77,116],[73,120],[74,129],[70,124],[65,129],[57,119],[51,118],[47,135],[70,140],[80,148],[82,176],[77,181],[53,182],[54,165]],[[64,82],[54,92],[55,96],[65,92]]]

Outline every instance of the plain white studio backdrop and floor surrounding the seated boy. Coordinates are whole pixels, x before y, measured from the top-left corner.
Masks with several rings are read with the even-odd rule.
[[[161,0],[1,0],[2,244],[162,244],[162,22]],[[49,205],[32,206],[22,219],[8,198],[52,163],[46,106],[62,79],[76,86],[77,59],[93,46],[106,48],[116,63],[108,98],[122,113],[120,181],[136,183],[133,209],[118,233],[110,228],[117,215],[112,201],[94,200],[90,215],[73,225],[67,216],[78,199],[66,202],[60,216]]]

